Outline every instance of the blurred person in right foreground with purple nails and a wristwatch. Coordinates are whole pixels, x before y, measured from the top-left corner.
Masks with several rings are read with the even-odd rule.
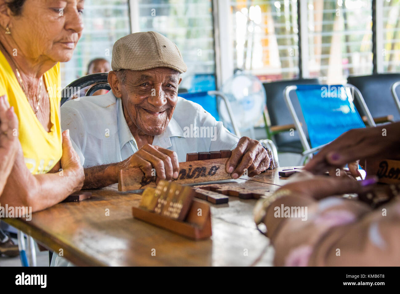
[[[386,129],[382,134],[382,128]],[[276,266],[398,266],[400,264],[400,200],[395,197],[372,209],[361,201],[334,195],[366,194],[375,178],[318,176],[355,160],[400,159],[400,123],[350,130],[306,164],[299,177],[257,202],[256,224],[264,223],[275,248]],[[312,175],[316,174],[317,176]],[[353,176],[357,176],[353,172]],[[396,190],[397,189],[397,190]],[[282,208],[300,208],[301,217],[282,214]],[[307,211],[305,209],[307,208]]]

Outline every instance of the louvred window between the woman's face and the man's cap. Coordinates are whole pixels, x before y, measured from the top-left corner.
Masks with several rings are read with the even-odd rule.
[[[114,42],[130,33],[128,0],[86,0],[83,19],[84,30],[74,56],[61,64],[62,87],[84,76],[93,58],[111,63]]]

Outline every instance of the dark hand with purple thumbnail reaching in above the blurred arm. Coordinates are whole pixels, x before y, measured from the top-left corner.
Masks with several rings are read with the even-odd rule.
[[[399,143],[400,122],[350,130],[322,148],[304,169],[322,174],[349,164],[350,173],[357,177],[357,160],[362,163],[367,158],[400,159]]]

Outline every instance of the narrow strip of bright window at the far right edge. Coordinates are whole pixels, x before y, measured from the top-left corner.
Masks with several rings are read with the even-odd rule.
[[[400,0],[383,1],[383,72],[400,72]]]

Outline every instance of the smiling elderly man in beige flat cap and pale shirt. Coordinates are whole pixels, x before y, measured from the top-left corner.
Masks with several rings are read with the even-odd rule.
[[[190,152],[233,149],[226,164],[232,178],[245,169],[254,176],[269,168],[260,142],[239,139],[200,105],[178,97],[180,74],[187,67],[168,38],[156,32],[120,38],[111,67],[112,91],[61,107],[62,128],[70,130],[84,166],[84,188],[114,184],[119,170],[133,167],[146,178],[154,168],[157,182],[178,178],[179,162]],[[200,136],[189,129],[207,131]]]

